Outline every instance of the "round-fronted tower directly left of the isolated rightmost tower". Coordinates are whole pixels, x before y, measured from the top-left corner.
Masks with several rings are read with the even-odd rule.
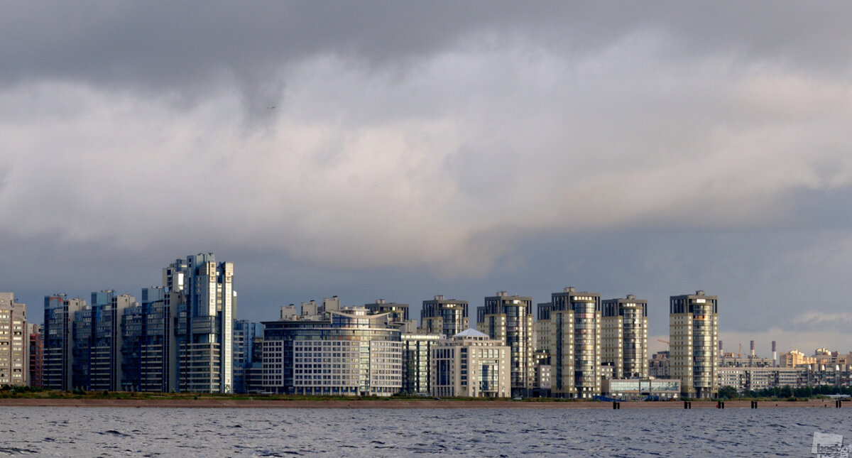
[[[602,363],[613,378],[648,378],[648,301],[626,298],[601,302]]]

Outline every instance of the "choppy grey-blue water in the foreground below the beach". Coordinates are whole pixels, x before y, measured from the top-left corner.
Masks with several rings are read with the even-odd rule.
[[[813,456],[852,409],[9,407],[0,455]]]

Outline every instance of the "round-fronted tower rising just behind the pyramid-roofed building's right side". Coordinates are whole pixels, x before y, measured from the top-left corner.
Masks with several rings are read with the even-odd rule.
[[[528,396],[535,383],[532,307],[533,298],[505,291],[486,297],[485,305],[476,307],[476,328],[510,348],[512,396]]]

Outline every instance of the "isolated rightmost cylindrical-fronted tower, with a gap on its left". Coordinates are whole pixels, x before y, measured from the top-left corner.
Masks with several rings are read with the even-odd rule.
[[[673,295],[669,307],[671,376],[681,381],[682,396],[711,398],[718,391],[717,296]]]

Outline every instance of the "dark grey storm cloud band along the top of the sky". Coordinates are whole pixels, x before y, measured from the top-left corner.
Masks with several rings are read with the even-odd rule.
[[[848,70],[850,14],[846,2],[26,2],[0,19],[0,77],[192,89],[314,54],[405,63],[515,37],[585,54],[643,30],[683,57]]]

